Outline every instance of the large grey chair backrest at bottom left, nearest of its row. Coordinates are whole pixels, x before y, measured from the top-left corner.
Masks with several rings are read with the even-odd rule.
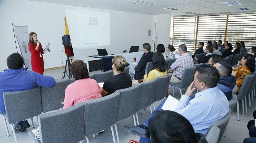
[[[84,139],[84,108],[80,102],[67,109],[39,115],[43,143],[76,143]]]

